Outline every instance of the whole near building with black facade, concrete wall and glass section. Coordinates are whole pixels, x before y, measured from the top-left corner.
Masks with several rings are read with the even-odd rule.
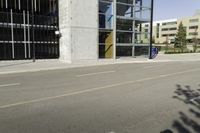
[[[2,14],[1,60],[149,54],[150,28],[142,31],[142,24],[150,23],[151,0],[0,0]]]

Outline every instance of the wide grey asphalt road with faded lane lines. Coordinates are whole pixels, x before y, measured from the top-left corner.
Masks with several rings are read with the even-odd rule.
[[[0,75],[0,133],[200,131],[200,62]]]

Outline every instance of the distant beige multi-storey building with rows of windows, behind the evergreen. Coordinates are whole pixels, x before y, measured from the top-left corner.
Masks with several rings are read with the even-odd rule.
[[[174,43],[181,22],[186,29],[186,38],[189,42],[193,38],[200,38],[200,16],[191,16],[155,21],[153,24],[153,38],[155,43]]]

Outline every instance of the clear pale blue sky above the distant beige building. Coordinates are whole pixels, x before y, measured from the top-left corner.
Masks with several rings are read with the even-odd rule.
[[[200,0],[154,0],[154,20],[194,15]]]

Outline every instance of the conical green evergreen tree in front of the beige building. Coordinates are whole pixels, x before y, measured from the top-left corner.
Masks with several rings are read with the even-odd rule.
[[[182,22],[179,24],[174,46],[176,48],[180,48],[181,52],[183,52],[183,49],[187,46],[186,29],[184,28]]]

